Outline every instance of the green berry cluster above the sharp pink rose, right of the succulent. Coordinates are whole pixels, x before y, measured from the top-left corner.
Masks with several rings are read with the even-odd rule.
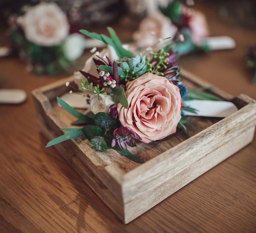
[[[163,76],[164,73],[160,72],[159,70],[167,69],[167,66],[169,63],[169,58],[166,58],[166,56],[169,56],[170,54],[165,52],[164,49],[161,49],[158,53],[153,54],[153,58],[156,59],[156,64],[153,65],[150,63],[150,58],[147,58],[147,66],[148,66],[148,72],[152,74],[157,74]]]

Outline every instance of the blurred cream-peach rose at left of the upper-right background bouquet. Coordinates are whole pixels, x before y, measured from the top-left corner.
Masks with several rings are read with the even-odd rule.
[[[144,18],[139,30],[133,33],[133,39],[138,47],[153,46],[159,39],[171,37],[174,39],[178,28],[163,14],[156,12]],[[163,47],[163,45],[161,45]]]

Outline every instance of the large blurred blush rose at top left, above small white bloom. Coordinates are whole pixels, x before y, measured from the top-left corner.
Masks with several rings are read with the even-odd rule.
[[[29,8],[17,22],[29,41],[42,46],[59,44],[69,32],[67,17],[55,3],[41,2]]]

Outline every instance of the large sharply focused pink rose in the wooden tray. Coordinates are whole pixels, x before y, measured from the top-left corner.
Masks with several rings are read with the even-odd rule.
[[[166,78],[146,73],[126,84],[128,108],[117,112],[122,126],[130,127],[149,143],[176,132],[183,108],[180,91]]]

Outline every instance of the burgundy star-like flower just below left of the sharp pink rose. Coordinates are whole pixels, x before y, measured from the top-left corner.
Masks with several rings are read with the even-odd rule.
[[[121,149],[126,149],[127,145],[136,146],[135,141],[140,141],[141,137],[135,133],[130,127],[120,127],[114,130],[111,146],[114,147],[116,144]]]

